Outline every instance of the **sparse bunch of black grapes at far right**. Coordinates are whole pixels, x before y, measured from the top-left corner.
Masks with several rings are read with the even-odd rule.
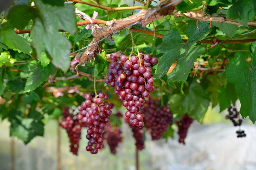
[[[228,108],[228,115],[226,115],[225,118],[231,120],[234,126],[240,127],[242,125],[243,120],[240,118],[239,114],[240,113],[239,111],[237,111],[236,107],[230,106]],[[236,133],[238,138],[246,137],[245,131],[240,130],[240,128],[239,130],[236,131]]]

